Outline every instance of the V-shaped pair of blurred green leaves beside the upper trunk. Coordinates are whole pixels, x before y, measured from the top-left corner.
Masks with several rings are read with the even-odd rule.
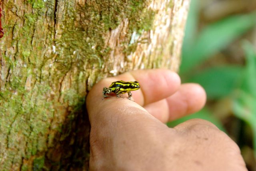
[[[233,15],[198,30],[199,0],[192,0],[182,46],[180,74],[190,72],[256,24],[256,12]],[[192,20],[192,21],[190,21]],[[192,23],[196,22],[196,23]]]

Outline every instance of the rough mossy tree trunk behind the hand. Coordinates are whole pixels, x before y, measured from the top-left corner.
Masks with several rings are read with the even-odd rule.
[[[128,70],[178,70],[188,0],[3,0],[0,170],[87,170],[85,97]]]

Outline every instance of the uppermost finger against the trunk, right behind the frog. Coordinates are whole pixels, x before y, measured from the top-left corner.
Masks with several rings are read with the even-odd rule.
[[[180,87],[180,77],[170,70],[136,70],[126,72],[116,77],[106,78],[98,82],[89,93],[92,94],[94,99],[92,101],[92,96],[88,95],[87,105],[89,107],[91,104],[99,105],[102,101],[102,88],[108,87],[112,82],[118,80],[136,80],[139,82],[140,89],[132,91],[132,95],[136,103],[141,106],[169,97]]]

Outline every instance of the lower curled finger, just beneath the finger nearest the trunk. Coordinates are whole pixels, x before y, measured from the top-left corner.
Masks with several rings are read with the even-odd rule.
[[[198,84],[182,84],[179,90],[160,101],[150,103],[144,108],[162,122],[168,122],[202,109],[206,93]]]

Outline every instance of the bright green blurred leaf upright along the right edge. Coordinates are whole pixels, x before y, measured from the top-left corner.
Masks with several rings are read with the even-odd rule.
[[[256,157],[256,52],[249,42],[244,42],[243,47],[246,53],[246,66],[242,75],[242,85],[234,93],[233,111],[252,128]]]

